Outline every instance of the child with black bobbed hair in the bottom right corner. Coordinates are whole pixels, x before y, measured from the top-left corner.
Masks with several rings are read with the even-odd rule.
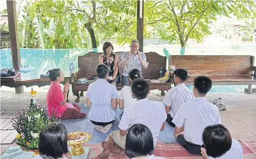
[[[242,159],[243,147],[236,139],[232,139],[225,126],[211,125],[203,131],[203,159]],[[209,156],[209,157],[208,157]]]

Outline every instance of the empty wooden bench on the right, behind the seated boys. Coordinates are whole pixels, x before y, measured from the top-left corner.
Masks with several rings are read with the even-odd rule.
[[[212,80],[212,85],[251,85],[256,84],[254,78],[256,67],[254,56],[248,55],[174,55],[169,58],[169,66],[186,69],[190,73],[186,85],[193,85],[199,75]]]

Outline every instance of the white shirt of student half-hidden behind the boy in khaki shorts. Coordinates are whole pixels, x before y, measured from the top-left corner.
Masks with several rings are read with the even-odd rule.
[[[132,98],[131,86],[122,88],[119,94],[119,98],[124,99],[124,109],[134,106],[134,104],[137,102],[136,98]]]

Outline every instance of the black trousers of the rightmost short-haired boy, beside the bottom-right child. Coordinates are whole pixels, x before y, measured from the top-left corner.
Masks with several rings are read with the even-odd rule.
[[[201,155],[201,147],[202,146],[193,144],[189,141],[186,141],[183,134],[180,134],[180,135],[177,136],[177,142],[183,148],[185,148],[187,151],[189,151],[190,154]]]

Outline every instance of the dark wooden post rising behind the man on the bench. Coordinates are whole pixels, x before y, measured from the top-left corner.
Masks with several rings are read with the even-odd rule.
[[[143,26],[144,26],[144,1],[137,1],[137,40],[140,43],[140,51],[143,52]]]

